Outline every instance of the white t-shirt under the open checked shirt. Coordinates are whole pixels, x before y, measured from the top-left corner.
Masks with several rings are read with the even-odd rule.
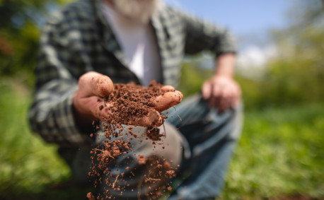
[[[109,3],[103,2],[102,8],[117,42],[126,55],[129,69],[137,75],[141,84],[148,86],[152,80],[161,81],[160,57],[151,25],[125,18]]]

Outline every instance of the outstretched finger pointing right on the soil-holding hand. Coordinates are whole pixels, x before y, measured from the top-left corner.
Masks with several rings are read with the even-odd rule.
[[[162,112],[173,105],[179,104],[181,100],[183,100],[183,93],[175,90],[174,92],[164,93],[163,95],[151,100],[151,107],[154,107],[158,112]]]

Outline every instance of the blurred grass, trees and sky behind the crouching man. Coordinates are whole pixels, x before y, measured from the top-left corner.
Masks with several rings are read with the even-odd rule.
[[[0,199],[88,192],[57,187],[69,168],[27,120],[40,29],[70,1],[0,0]],[[324,199],[324,1],[166,3],[224,25],[238,40],[245,123],[219,199]],[[208,53],[185,58],[185,96],[199,91],[212,62]]]

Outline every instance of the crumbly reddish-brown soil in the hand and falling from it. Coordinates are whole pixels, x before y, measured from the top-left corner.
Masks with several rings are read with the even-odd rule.
[[[110,189],[105,189],[103,194],[98,194],[96,199],[112,199],[114,198],[110,194],[110,190],[125,191],[125,187],[120,187],[120,182],[124,177],[124,173],[120,175],[111,175],[111,170],[109,165],[117,158],[119,155],[127,154],[127,152],[132,151],[129,140],[132,138],[137,138],[137,134],[133,134],[133,128],[128,127],[127,131],[124,131],[123,125],[130,125],[135,122],[136,119],[141,117],[148,117],[150,113],[156,113],[156,110],[151,107],[153,98],[163,95],[161,91],[161,84],[152,81],[148,88],[143,86],[138,86],[134,83],[122,84],[115,83],[114,90],[109,96],[105,97],[105,106],[98,107],[99,110],[103,110],[104,107],[109,106],[108,118],[102,124],[103,131],[105,132],[105,141],[100,143],[100,147],[93,148],[92,160],[93,166],[91,167],[91,172],[89,175],[92,177],[97,177],[94,182],[94,186],[97,187],[98,184],[106,184]],[[161,139],[162,134],[159,133],[157,128],[158,124],[163,124],[164,119],[167,117],[159,114],[158,121],[154,121],[147,127],[146,136],[152,141],[158,141]],[[100,127],[97,127],[99,129]],[[123,133],[127,134],[124,136]],[[92,134],[93,135],[93,134]],[[124,139],[125,137],[125,139]],[[148,173],[144,174],[143,182],[150,182],[152,185],[156,182],[163,182],[163,185],[159,185],[158,188],[152,189],[148,187],[148,193],[146,197],[149,199],[157,199],[158,196],[162,195],[162,192],[171,189],[169,184],[165,184],[170,177],[175,175],[175,171],[170,167],[168,161],[161,160],[159,158],[146,158],[144,155],[138,155],[137,162],[139,165],[148,165],[149,169],[154,168],[156,170],[146,170]],[[126,167],[125,170],[129,171],[130,168]],[[134,172],[130,172],[131,174]],[[108,177],[108,178],[103,178]],[[110,177],[110,178],[109,178]],[[114,180],[114,181],[111,181]],[[142,183],[139,183],[138,190],[140,193],[142,188]],[[127,185],[127,184],[126,184]],[[169,185],[169,187],[167,187]],[[88,199],[95,199],[95,196],[90,192],[87,194]],[[140,199],[140,196],[138,196]]]

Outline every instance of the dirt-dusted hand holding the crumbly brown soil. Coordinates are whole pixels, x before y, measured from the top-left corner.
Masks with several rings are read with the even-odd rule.
[[[74,94],[74,115],[80,127],[88,127],[93,120],[107,118],[110,107],[114,102],[105,102],[104,97],[113,90],[113,83],[108,76],[96,72],[88,72],[79,78],[79,90]],[[148,116],[134,116],[129,119],[129,124],[150,126],[160,117],[159,112],[181,102],[183,94],[172,86],[163,86],[163,95],[152,98],[152,111]],[[102,109],[100,110],[99,107]],[[152,120],[153,119],[153,120]]]

